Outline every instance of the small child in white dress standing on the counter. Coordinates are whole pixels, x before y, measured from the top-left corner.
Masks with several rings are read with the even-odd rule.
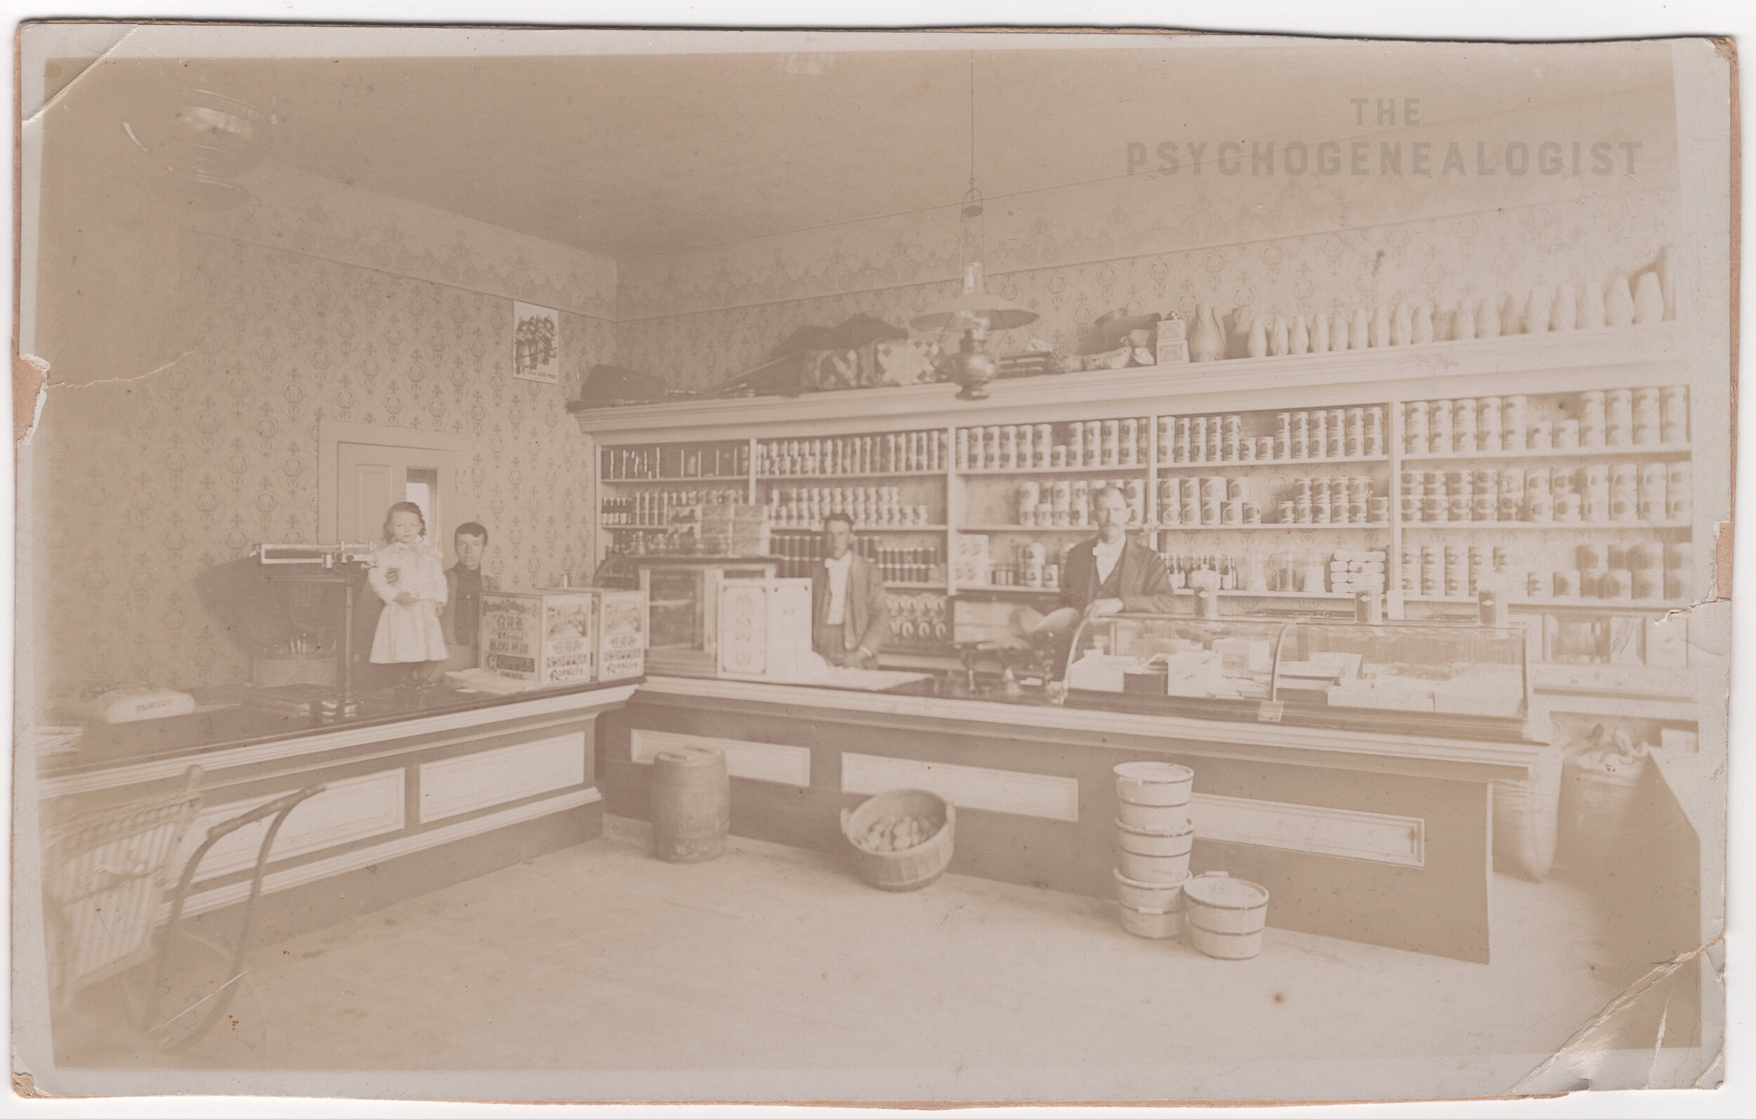
[[[372,552],[367,581],[385,609],[372,637],[374,665],[407,665],[406,684],[428,682],[444,661],[439,607],[446,600],[439,549],[427,544],[427,517],[414,502],[397,502],[385,516],[385,544]]]

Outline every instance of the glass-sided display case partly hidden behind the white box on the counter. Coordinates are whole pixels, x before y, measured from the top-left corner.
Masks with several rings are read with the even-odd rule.
[[[646,670],[711,677],[716,668],[720,584],[773,579],[776,558],[630,556],[646,593]]]

